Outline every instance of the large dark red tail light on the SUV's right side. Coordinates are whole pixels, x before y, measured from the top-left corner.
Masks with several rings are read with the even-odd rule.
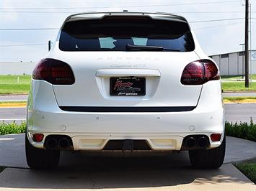
[[[219,70],[211,60],[198,60],[185,67],[180,81],[183,85],[202,85],[219,78]]]

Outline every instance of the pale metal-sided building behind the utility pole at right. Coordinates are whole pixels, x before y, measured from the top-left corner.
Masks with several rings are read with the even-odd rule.
[[[211,55],[219,66],[221,75],[244,75],[244,52],[231,52],[221,55]],[[256,74],[256,50],[251,52],[249,70],[252,66],[252,74]]]

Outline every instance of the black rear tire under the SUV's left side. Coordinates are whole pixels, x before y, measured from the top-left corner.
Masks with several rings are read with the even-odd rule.
[[[30,144],[25,134],[25,148],[27,165],[31,169],[54,169],[58,167],[58,161],[60,159],[60,151],[37,149]]]

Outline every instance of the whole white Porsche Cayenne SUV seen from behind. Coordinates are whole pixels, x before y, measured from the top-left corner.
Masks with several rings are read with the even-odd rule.
[[[33,71],[26,135],[33,169],[57,167],[61,150],[188,150],[193,167],[218,168],[219,69],[184,17],[71,15]]]

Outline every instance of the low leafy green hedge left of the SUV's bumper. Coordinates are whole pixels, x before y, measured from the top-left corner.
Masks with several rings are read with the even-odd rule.
[[[26,123],[22,121],[21,124],[17,124],[13,121],[10,124],[6,124],[4,121],[0,123],[0,135],[4,134],[22,134],[26,131]]]

